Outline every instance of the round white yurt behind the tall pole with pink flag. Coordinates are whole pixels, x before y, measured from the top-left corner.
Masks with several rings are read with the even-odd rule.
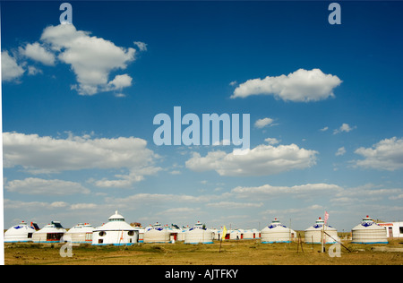
[[[330,236],[322,233],[322,231],[326,232]],[[305,230],[305,243],[322,244],[322,234],[324,236],[324,244],[335,244],[339,239],[338,231],[334,227],[325,225],[324,220],[319,218],[316,220],[313,226]]]

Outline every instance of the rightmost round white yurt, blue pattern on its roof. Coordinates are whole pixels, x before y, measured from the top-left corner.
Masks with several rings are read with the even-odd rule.
[[[351,230],[354,244],[388,244],[386,228],[381,227],[368,215]]]

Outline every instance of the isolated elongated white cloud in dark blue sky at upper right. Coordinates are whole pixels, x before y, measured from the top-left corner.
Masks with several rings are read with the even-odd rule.
[[[245,81],[234,90],[231,98],[274,95],[275,98],[285,101],[317,101],[334,97],[333,89],[341,82],[337,76],[322,73],[320,69],[299,69],[288,75]]]

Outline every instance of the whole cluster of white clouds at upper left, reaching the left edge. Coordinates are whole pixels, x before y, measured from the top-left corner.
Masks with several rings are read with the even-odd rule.
[[[140,51],[147,50],[147,44],[134,41]],[[91,36],[90,32],[76,30],[73,24],[48,26],[43,30],[38,42],[24,44],[18,48],[19,58],[47,66],[58,63],[69,64],[77,83],[72,89],[80,95],[94,95],[105,91],[121,91],[132,85],[132,77],[127,73],[112,73],[124,70],[135,60],[136,49],[117,47],[112,41]],[[13,81],[25,72],[27,62],[17,63],[7,51],[2,52],[2,72],[4,81]],[[29,74],[42,73],[33,65],[28,66]],[[124,97],[122,93],[116,97]]]

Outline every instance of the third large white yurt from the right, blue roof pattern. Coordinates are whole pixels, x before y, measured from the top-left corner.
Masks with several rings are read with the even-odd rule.
[[[262,244],[291,243],[296,238],[296,231],[281,224],[279,219],[271,221],[270,225],[261,231]]]

